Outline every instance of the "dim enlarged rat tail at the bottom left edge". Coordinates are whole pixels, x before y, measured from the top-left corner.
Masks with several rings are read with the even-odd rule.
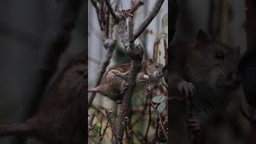
[[[28,123],[13,123],[10,125],[0,125],[0,137],[8,135],[29,135],[33,129]]]

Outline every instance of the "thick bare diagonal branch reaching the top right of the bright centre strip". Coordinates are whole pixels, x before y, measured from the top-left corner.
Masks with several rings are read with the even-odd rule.
[[[158,11],[160,10],[163,2],[164,0],[158,0],[154,3],[153,9],[150,11],[150,14],[146,16],[144,22],[142,22],[142,24],[138,26],[138,29],[135,30],[134,38],[132,39],[133,41],[135,41],[135,39],[142,34],[142,32],[146,29],[146,26],[148,26],[150,22],[154,19],[154,17],[158,14]]]

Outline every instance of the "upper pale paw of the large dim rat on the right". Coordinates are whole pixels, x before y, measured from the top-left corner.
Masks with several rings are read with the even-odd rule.
[[[194,96],[195,88],[193,83],[182,80],[181,82],[178,82],[178,90],[182,95],[188,98],[188,97]]]

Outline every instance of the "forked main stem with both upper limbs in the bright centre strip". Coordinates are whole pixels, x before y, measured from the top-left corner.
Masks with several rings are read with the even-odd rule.
[[[138,74],[138,70],[140,69],[143,52],[144,52],[142,46],[135,45],[134,41],[136,38],[138,38],[140,34],[142,34],[143,30],[146,29],[146,26],[150,24],[150,22],[154,19],[156,14],[158,14],[158,11],[162,6],[163,1],[164,0],[158,0],[158,2],[154,4],[154,9],[151,10],[150,14],[146,17],[146,20],[142,22],[142,25],[138,27],[137,32],[134,34],[133,33],[133,26],[134,26],[133,15],[127,13],[126,10],[122,10],[116,13],[110,4],[110,1],[105,0],[106,6],[110,10],[110,14],[118,22],[118,26],[119,26],[118,29],[119,29],[120,37],[122,39],[122,44],[125,47],[126,52],[131,59],[131,66],[130,66],[129,75],[127,78],[127,82],[129,86],[122,99],[122,106],[119,112],[118,123],[117,123],[117,129],[118,129],[117,134],[118,134],[118,138],[120,139],[115,139],[116,144],[122,143],[124,129],[125,129],[124,124],[126,121],[125,118],[128,117],[130,113],[131,96],[134,91],[136,75]],[[128,26],[126,23],[127,17],[129,18]]]

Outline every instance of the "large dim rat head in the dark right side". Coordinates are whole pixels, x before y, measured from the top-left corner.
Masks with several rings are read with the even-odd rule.
[[[214,90],[236,90],[240,84],[240,51],[209,38],[201,30],[192,45],[190,78]]]

